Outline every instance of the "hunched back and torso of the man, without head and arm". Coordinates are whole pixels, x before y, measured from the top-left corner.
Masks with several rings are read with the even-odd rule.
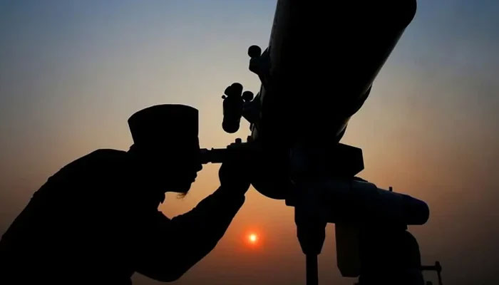
[[[134,168],[126,152],[96,150],[50,177],[1,239],[2,275],[128,280],[138,219],[162,200]]]

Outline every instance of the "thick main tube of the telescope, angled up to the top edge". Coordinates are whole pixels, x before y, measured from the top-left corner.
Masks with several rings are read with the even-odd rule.
[[[292,147],[339,142],[415,12],[415,0],[277,1],[251,125],[259,192],[286,198]]]

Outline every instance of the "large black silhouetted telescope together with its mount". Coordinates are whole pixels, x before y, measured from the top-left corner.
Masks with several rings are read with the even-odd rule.
[[[406,229],[426,223],[427,204],[356,177],[362,150],[340,142],[415,14],[416,0],[278,0],[268,47],[248,49],[259,92],[233,83],[222,96],[222,128],[235,133],[245,118],[251,133],[226,149],[202,149],[202,162],[252,157],[254,188],[295,209],[309,285],[318,284],[326,223],[335,224],[343,276],[424,283]]]

